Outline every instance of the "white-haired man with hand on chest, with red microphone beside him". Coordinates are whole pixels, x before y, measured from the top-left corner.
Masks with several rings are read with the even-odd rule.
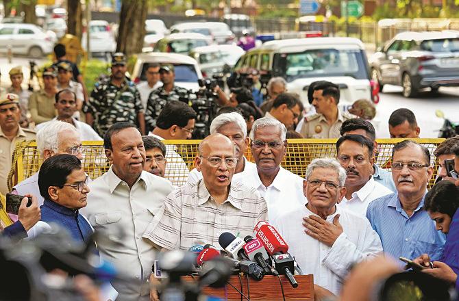
[[[382,244],[366,218],[336,207],[346,193],[346,171],[336,159],[314,159],[306,179],[303,193],[307,201],[302,209],[270,221],[279,233],[267,231],[268,227],[260,233],[260,226],[255,232],[259,239],[271,243],[265,244],[269,254],[288,249],[303,274],[313,274],[315,285],[337,295],[351,265],[380,254]]]

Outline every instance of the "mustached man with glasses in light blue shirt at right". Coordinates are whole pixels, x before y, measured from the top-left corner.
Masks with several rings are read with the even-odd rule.
[[[395,259],[414,259],[427,253],[438,260],[443,254],[445,235],[436,231],[423,209],[425,187],[432,173],[427,148],[411,140],[394,146],[392,176],[397,192],[373,200],[367,218],[380,235],[384,252]]]

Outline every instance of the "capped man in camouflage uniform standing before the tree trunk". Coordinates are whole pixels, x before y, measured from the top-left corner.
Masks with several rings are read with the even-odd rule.
[[[145,133],[140,93],[126,76],[126,58],[123,53],[112,57],[112,75],[95,83],[88,103],[84,105],[86,122],[103,137],[108,128],[116,122],[136,124]]]

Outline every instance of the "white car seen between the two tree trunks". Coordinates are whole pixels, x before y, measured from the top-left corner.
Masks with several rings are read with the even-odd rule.
[[[110,24],[103,20],[94,20],[89,23],[89,48],[91,53],[108,57],[116,50],[116,40],[110,28]],[[82,47],[87,51],[86,31],[82,36]]]

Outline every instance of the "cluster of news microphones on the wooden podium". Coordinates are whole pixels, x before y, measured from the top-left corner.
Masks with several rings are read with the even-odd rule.
[[[281,235],[268,222],[258,222],[254,229],[255,237],[250,235],[241,239],[232,233],[225,232],[219,237],[223,250],[212,245],[193,246],[197,268],[206,263],[227,257],[233,263],[233,272],[242,272],[254,280],[262,280],[264,275],[285,275],[293,287],[298,287],[293,274],[297,270],[302,274],[295,259],[288,254],[288,245]]]

